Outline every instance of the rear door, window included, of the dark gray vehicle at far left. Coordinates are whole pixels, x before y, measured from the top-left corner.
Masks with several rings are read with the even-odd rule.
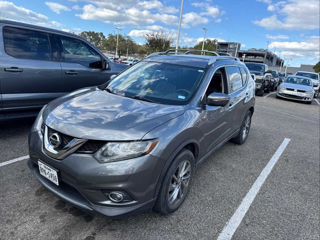
[[[5,52],[0,61],[3,109],[40,107],[61,95],[61,66],[51,60],[49,35],[3,27]]]

